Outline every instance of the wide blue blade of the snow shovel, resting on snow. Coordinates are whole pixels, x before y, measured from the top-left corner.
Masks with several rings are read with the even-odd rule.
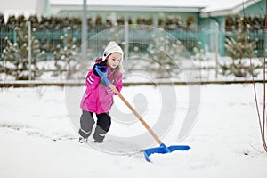
[[[189,149],[190,149],[190,146],[188,145],[172,145],[172,146],[166,147],[166,145],[162,143],[160,144],[159,147],[145,149],[145,150],[142,150],[142,152],[145,156],[145,159],[148,162],[151,162],[149,158],[151,154],[154,154],[154,153],[165,154],[165,153],[173,152],[174,150],[189,150]]]

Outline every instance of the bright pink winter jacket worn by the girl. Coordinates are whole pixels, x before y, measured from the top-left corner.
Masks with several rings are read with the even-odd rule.
[[[100,61],[98,59],[97,61]],[[96,61],[96,62],[97,62]],[[122,74],[118,73],[115,83],[114,71],[108,68],[109,81],[116,86],[117,91],[122,89]],[[88,72],[85,78],[86,90],[80,103],[80,108],[96,114],[107,113],[113,104],[114,93],[109,86],[100,85],[101,77],[93,74],[93,68]]]

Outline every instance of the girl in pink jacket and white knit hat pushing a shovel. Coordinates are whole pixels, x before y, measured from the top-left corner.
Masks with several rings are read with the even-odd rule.
[[[93,68],[85,78],[85,93],[80,104],[82,115],[80,117],[79,142],[87,142],[87,138],[92,133],[95,123],[93,114],[97,117],[96,127],[93,133],[94,142],[103,142],[105,134],[109,131],[111,118],[110,108],[113,104],[115,93],[105,84],[104,80],[95,70],[96,66],[106,66],[108,69],[109,81],[116,86],[117,91],[122,89],[122,69],[123,51],[116,42],[111,41],[104,50],[101,59],[95,61]]]

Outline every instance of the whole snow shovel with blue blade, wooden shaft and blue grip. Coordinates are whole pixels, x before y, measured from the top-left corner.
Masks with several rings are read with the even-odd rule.
[[[110,83],[109,78],[107,77],[107,75],[108,75],[107,67],[106,66],[96,66],[95,69],[96,69],[97,73],[99,74],[99,76],[101,77],[101,79],[103,79],[105,81],[106,85],[108,85],[109,88],[114,93],[116,93],[117,96],[122,101],[125,102],[125,105],[134,113],[135,117],[137,117],[141,121],[142,125],[144,125],[146,127],[146,129],[150,132],[150,134],[153,136],[153,138],[158,142],[159,147],[142,150],[142,152],[144,153],[145,159],[148,162],[151,162],[149,157],[151,154],[154,154],[154,153],[165,154],[165,153],[173,152],[174,150],[189,150],[190,149],[190,146],[188,146],[188,145],[173,145],[173,146],[166,147],[166,145],[163,142],[161,142],[161,140],[158,138],[157,134],[155,134],[153,132],[153,130],[150,128],[150,126],[142,119],[140,114],[138,114],[137,111],[132,107],[132,105],[128,101],[125,100],[125,97],[117,91],[117,88]],[[102,71],[102,70],[104,70],[104,71]]]

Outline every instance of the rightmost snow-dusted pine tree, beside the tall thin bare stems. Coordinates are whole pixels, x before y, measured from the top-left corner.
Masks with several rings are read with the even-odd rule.
[[[244,26],[244,20],[240,20],[237,28],[233,28],[232,33],[225,40],[224,46],[226,49],[226,54],[231,57],[231,63],[221,64],[223,75],[247,77],[248,74],[252,74],[249,63],[246,62],[246,59],[249,59],[250,57],[256,57],[257,39],[252,42],[248,41],[247,39],[248,36]],[[254,65],[254,68],[259,68],[259,66]],[[257,76],[256,73],[253,75]]]

